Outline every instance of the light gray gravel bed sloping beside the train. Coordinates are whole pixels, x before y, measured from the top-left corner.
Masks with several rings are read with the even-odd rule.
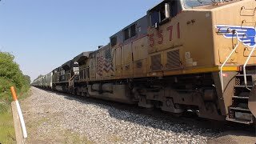
[[[218,136],[214,130],[194,125],[31,90],[30,98],[22,102],[28,143],[206,143]]]

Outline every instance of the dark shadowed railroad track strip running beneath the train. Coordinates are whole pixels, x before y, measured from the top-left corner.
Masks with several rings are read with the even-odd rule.
[[[41,89],[41,90],[44,90],[44,89]],[[134,113],[134,114],[146,114],[152,118],[157,118],[159,120],[164,120],[166,122],[175,122],[180,124],[194,124],[199,128],[212,129],[212,130],[216,130],[216,132],[223,132],[227,130],[230,130],[230,131],[246,130],[251,134],[255,134],[256,136],[256,127],[254,126],[248,126],[248,125],[243,125],[243,124],[234,123],[234,122],[219,122],[216,120],[199,118],[196,114],[190,113],[190,112],[186,112],[185,114],[182,114],[182,115],[172,114],[172,113],[159,110],[157,108],[146,109],[143,107],[139,107],[135,104],[133,105],[133,104],[126,104],[122,102],[112,102],[112,101],[102,100],[99,98],[81,97],[74,94],[66,94],[66,93],[52,91],[52,90],[45,90],[45,91],[49,91],[54,94],[62,94],[66,96],[66,98],[72,98],[72,99],[74,98],[78,102],[92,102],[95,105],[102,104],[106,106],[113,106],[118,110],[129,110],[131,113]]]

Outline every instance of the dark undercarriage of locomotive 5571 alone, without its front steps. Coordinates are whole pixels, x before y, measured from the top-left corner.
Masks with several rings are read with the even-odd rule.
[[[138,103],[146,108],[182,114],[193,111],[202,118],[224,120],[213,74],[163,78],[134,78],[101,82],[77,82],[75,94],[117,102]]]

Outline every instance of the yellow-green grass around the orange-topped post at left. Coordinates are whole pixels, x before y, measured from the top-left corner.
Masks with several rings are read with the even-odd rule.
[[[27,98],[30,87],[23,86],[18,90],[19,99]],[[10,101],[7,97],[11,97],[10,93],[5,94],[0,99],[0,143],[15,143],[14,120],[11,113]]]

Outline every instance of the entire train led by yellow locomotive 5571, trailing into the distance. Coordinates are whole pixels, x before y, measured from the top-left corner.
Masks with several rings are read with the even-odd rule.
[[[254,0],[164,0],[33,86],[255,124]]]

